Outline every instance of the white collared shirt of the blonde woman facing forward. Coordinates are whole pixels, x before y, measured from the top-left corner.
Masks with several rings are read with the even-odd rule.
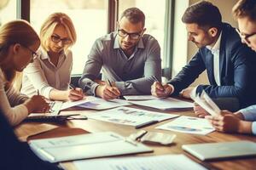
[[[49,99],[50,91],[55,88],[67,90],[73,67],[73,55],[70,50],[60,55],[55,66],[49,59],[49,54],[43,49],[38,50],[39,58],[26,66],[23,72],[21,93],[28,96],[37,94]]]

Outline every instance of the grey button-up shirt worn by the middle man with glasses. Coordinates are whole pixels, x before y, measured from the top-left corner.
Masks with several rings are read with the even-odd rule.
[[[144,34],[128,58],[119,47],[117,32],[112,32],[96,40],[84,66],[84,74],[79,86],[84,91],[96,94],[98,79],[102,70],[102,80],[115,82],[121,94],[150,94],[153,76],[160,80],[160,45],[154,37]]]

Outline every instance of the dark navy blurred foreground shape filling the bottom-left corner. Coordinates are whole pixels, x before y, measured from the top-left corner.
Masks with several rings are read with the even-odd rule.
[[[0,169],[6,170],[61,170],[49,162],[42,161],[15,136],[3,112],[0,111]]]

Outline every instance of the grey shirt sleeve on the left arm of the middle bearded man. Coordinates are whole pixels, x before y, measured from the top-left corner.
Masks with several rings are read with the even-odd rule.
[[[99,77],[102,69],[102,43],[96,40],[88,55],[88,60],[84,66],[83,76],[79,79],[79,87],[84,92],[96,95],[96,87],[99,85],[94,80]]]

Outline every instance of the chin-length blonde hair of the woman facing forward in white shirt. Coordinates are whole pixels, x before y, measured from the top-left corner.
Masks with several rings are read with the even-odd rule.
[[[64,26],[67,31],[67,35],[71,40],[71,43],[67,44],[64,50],[67,50],[67,48],[73,46],[73,44],[77,41],[77,34],[73,26],[73,22],[69,16],[64,13],[50,14],[49,17],[44,21],[40,31],[41,46],[46,51],[49,51],[50,37],[52,36],[56,26]]]

